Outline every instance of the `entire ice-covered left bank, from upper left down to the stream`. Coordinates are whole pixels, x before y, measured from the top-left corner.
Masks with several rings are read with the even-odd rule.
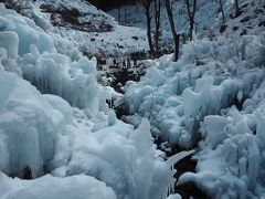
[[[0,198],[166,198],[172,163],[147,119],[134,129],[107,108],[96,60],[62,54],[32,20],[0,13]]]

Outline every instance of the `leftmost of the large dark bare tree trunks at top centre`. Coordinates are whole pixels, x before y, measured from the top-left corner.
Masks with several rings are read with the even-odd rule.
[[[141,0],[141,4],[144,6],[146,11],[147,39],[150,48],[150,54],[153,55],[155,49],[153,49],[152,39],[151,39],[151,15],[150,15],[151,0]]]

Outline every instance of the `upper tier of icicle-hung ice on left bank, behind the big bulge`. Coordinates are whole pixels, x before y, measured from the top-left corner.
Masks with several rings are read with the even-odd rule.
[[[3,6],[1,6],[3,7]],[[1,8],[3,9],[3,8]],[[10,11],[11,12],[11,11]],[[96,84],[96,60],[72,61],[57,53],[53,40],[28,18],[3,12],[1,46],[17,59],[23,77],[46,94],[56,94],[71,105],[98,112],[105,106],[104,90]]]

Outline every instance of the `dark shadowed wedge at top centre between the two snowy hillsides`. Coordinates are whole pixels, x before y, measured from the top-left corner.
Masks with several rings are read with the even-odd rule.
[[[109,11],[112,9],[118,8],[124,4],[132,4],[136,3],[136,0],[87,0],[98,9],[103,11]]]

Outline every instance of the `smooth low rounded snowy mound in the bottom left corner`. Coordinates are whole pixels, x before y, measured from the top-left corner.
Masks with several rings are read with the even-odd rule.
[[[116,199],[115,192],[104,182],[85,175],[57,178],[51,175],[35,180],[21,180],[8,178],[0,172],[0,195],[2,199],[85,199],[108,198]]]

